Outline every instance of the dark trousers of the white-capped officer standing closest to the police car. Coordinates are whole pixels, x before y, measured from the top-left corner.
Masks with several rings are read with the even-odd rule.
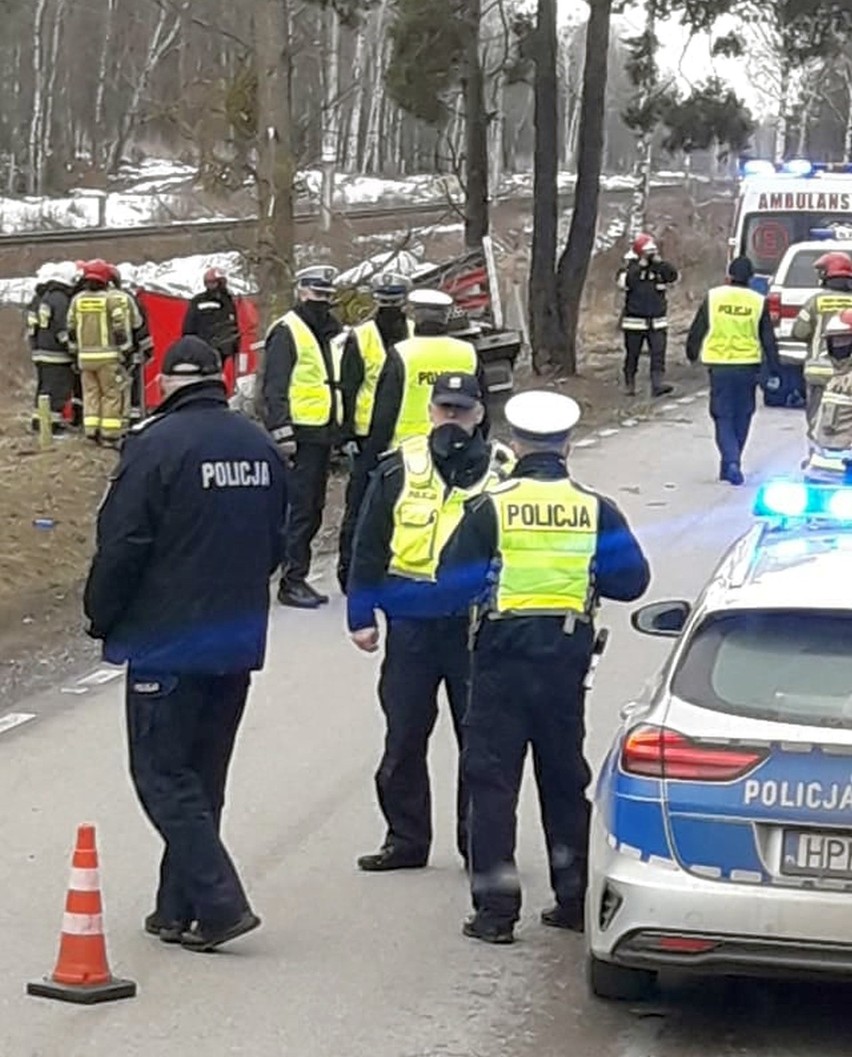
[[[588,663],[564,656],[474,652],[464,721],[464,774],[470,798],[470,885],[478,916],[514,924],[521,891],[515,866],[516,815],[527,745],[557,903],[584,898],[591,772],[582,681]]]

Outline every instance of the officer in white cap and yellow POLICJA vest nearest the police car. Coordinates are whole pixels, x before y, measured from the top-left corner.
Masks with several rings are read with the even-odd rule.
[[[512,478],[468,502],[439,570],[439,588],[477,602],[463,768],[470,798],[474,915],[465,935],[512,943],[521,903],[515,813],[526,746],[556,906],[542,922],[582,929],[590,780],[584,683],[598,598],[631,601],[648,564],[617,507],[566,467],[579,407],[526,392],[505,407],[518,463]]]

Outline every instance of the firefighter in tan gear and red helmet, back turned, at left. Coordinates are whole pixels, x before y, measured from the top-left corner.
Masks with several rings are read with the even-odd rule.
[[[126,364],[145,328],[135,299],[116,289],[114,278],[107,261],[85,261],[82,289],[68,310],[69,345],[81,376],[84,431],[110,446],[117,445],[127,425]]]

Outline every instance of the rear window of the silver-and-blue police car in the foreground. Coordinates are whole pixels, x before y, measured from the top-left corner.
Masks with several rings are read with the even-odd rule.
[[[693,634],[671,689],[734,716],[852,728],[852,611],[710,617]]]

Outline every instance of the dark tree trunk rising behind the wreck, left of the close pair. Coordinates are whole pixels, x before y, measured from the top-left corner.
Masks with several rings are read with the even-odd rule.
[[[481,21],[481,0],[467,0],[467,49],[464,62],[464,243],[469,248],[481,245],[488,234],[488,124],[479,47]]]

